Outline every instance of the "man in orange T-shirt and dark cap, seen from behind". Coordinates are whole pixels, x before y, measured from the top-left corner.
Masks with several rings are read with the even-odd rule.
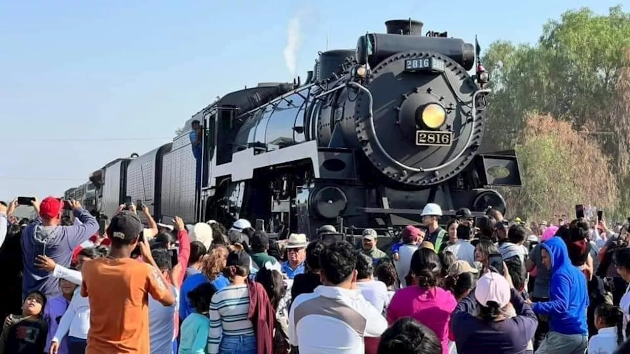
[[[81,296],[88,297],[91,309],[89,353],[149,353],[149,294],[162,305],[175,303],[143,230],[138,215],[119,212],[106,231],[112,239],[108,256],[81,268]],[[144,262],[130,258],[136,247]]]

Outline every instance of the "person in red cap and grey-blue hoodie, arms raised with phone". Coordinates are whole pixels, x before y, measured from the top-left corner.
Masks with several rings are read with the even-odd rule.
[[[38,290],[50,299],[61,295],[59,278],[38,268],[35,265],[37,256],[45,254],[58,265],[69,268],[72,251],[98,232],[98,221],[81,207],[81,203],[73,200],[72,210],[81,224],[60,226],[63,200],[47,197],[41,203],[38,200],[32,203],[39,216],[24,228],[20,240],[24,265],[22,298],[25,299],[26,295]]]

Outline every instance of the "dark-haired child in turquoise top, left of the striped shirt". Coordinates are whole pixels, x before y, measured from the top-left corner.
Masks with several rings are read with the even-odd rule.
[[[205,354],[210,330],[208,312],[212,295],[217,289],[212,283],[202,283],[188,292],[188,300],[195,312],[181,323],[179,354]]]

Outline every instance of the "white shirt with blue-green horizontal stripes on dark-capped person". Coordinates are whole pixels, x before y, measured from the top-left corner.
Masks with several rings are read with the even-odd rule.
[[[228,285],[212,295],[208,353],[219,353],[221,336],[254,334],[254,325],[247,319],[249,290],[246,284]]]

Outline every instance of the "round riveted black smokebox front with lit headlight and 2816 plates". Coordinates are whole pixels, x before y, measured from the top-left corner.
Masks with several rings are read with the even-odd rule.
[[[455,60],[430,51],[394,54],[365,88],[369,94],[357,90],[345,133],[389,180],[437,185],[473,161],[483,138],[481,110],[473,112],[479,88]]]

